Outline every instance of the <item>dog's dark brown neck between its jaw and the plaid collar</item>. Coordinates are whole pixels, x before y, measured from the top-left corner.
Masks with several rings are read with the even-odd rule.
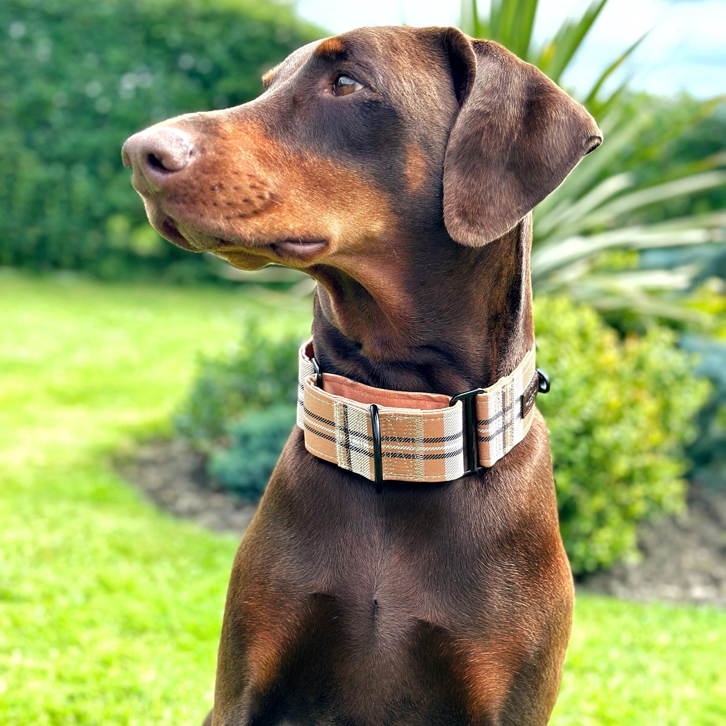
[[[405,259],[311,270],[315,354],[324,372],[378,388],[459,393],[508,375],[534,345],[531,217],[481,248],[399,245]]]

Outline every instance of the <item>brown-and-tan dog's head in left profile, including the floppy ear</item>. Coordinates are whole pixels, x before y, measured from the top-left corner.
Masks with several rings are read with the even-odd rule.
[[[537,68],[455,28],[353,30],[263,80],[123,146],[155,229],[242,269],[346,269],[412,235],[484,245],[602,140]]]

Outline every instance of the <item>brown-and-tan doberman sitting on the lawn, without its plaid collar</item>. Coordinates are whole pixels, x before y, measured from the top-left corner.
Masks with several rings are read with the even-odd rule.
[[[264,86],[126,142],[155,229],[314,277],[325,372],[449,396],[510,374],[530,212],[602,141],[590,115],[455,28],[327,38]],[[545,724],[572,600],[536,409],[490,468],[380,493],[295,428],[234,560],[208,722]]]

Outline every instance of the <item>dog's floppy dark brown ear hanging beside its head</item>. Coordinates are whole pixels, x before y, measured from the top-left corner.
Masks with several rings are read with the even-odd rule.
[[[501,237],[603,136],[540,70],[452,28],[446,46],[460,110],[444,159],[444,223],[463,245]]]

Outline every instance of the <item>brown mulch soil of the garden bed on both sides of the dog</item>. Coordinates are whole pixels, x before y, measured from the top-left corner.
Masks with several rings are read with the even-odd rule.
[[[221,489],[204,457],[181,441],[151,441],[120,473],[163,509],[217,531],[242,534],[256,505]],[[688,511],[643,523],[643,558],[590,576],[579,590],[630,600],[670,600],[726,607],[726,493],[692,487]]]

